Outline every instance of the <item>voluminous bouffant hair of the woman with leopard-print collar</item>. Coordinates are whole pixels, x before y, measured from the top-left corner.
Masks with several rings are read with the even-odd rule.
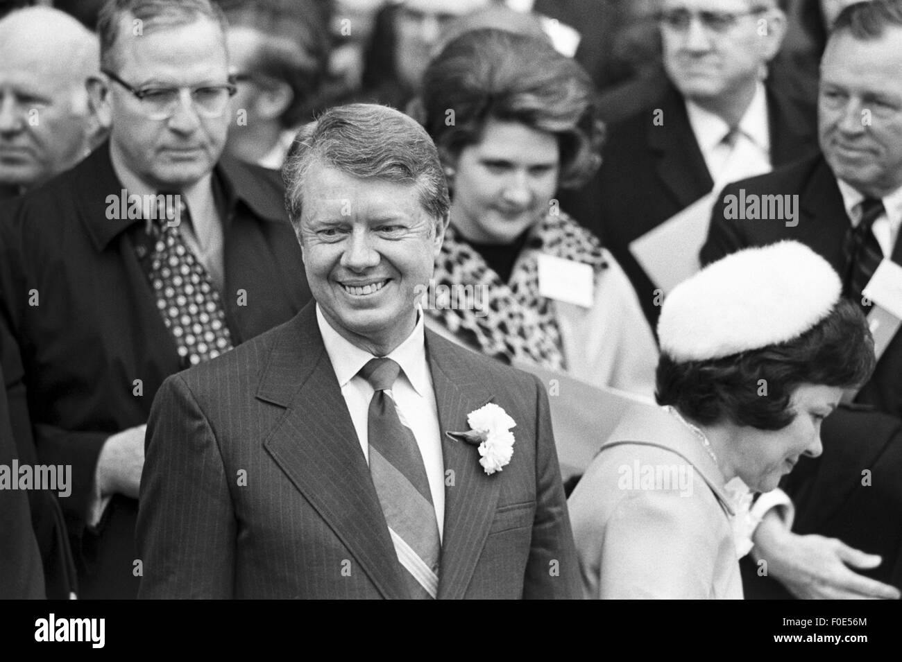
[[[604,125],[591,78],[535,37],[487,28],[450,41],[423,75],[422,113],[446,162],[481,141],[494,119],[557,136],[560,186],[580,186],[601,164]]]

